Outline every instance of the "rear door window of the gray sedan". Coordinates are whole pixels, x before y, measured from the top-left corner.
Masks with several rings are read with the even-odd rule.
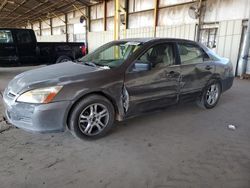
[[[181,64],[202,63],[209,56],[199,46],[194,44],[178,44]]]

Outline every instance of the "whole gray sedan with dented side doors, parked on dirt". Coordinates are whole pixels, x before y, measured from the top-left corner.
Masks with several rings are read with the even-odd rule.
[[[228,59],[181,39],[113,41],[76,62],[17,75],[4,92],[10,123],[99,138],[128,117],[196,101],[211,109],[231,88]]]

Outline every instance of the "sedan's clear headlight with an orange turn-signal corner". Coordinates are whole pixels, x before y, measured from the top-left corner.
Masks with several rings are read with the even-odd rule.
[[[27,91],[21,94],[18,102],[46,104],[51,102],[57,93],[62,89],[62,86],[45,87]]]

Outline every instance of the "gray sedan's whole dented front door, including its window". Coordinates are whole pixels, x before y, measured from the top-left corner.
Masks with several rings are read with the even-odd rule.
[[[174,43],[158,43],[144,51],[125,74],[129,95],[127,115],[175,104],[179,93],[180,66]]]

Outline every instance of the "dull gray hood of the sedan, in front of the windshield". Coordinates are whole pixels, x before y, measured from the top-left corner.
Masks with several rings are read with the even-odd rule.
[[[103,69],[73,62],[59,63],[17,75],[10,81],[8,90],[18,94],[34,88],[63,85],[67,82],[84,79],[88,73],[100,70]]]

